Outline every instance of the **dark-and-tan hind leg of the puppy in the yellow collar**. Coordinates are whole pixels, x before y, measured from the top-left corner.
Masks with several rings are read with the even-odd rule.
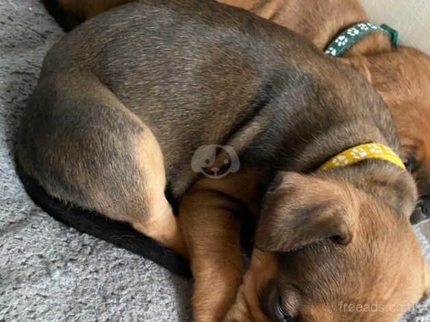
[[[126,221],[186,255],[151,130],[92,74],[45,77],[29,101],[17,139],[24,171],[47,193]]]

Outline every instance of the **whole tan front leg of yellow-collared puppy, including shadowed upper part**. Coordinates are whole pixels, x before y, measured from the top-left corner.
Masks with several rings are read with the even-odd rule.
[[[240,215],[252,221],[266,175],[246,169],[201,179],[179,201],[179,220],[194,276],[196,321],[222,321],[242,281]]]

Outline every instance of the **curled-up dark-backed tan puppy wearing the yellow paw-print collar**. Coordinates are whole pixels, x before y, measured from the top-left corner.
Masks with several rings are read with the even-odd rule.
[[[16,139],[19,167],[65,213],[127,222],[190,258],[205,322],[401,317],[429,273],[399,151],[362,75],[201,0],[129,3],[66,35]],[[257,247],[245,276],[241,222]]]

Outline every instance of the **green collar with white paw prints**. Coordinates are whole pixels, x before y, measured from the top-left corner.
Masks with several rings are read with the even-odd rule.
[[[396,30],[388,27],[388,25],[377,26],[372,23],[356,23],[348,29],[344,30],[332,42],[325,47],[325,53],[333,57],[339,57],[347,51],[358,40],[362,39],[367,34],[372,32],[383,32],[390,37],[394,47],[397,46],[398,33]]]

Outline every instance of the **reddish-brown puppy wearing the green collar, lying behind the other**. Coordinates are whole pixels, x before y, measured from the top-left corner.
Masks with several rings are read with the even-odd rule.
[[[351,25],[368,21],[357,0],[218,0],[267,18],[311,40],[323,50],[340,32]],[[416,55],[409,53],[414,52]],[[411,217],[412,223],[430,218],[430,132],[429,119],[430,64],[429,56],[416,49],[396,49],[390,38],[381,33],[368,34],[350,47],[342,61],[356,66],[370,79],[364,61],[377,54],[379,62],[373,73],[379,81],[372,83],[388,104],[399,136],[401,156],[418,184],[420,203]],[[396,57],[393,64],[392,58]],[[350,60],[352,60],[350,62]],[[421,66],[420,68],[417,68]],[[390,75],[391,77],[388,77]],[[415,79],[416,78],[416,79]]]

